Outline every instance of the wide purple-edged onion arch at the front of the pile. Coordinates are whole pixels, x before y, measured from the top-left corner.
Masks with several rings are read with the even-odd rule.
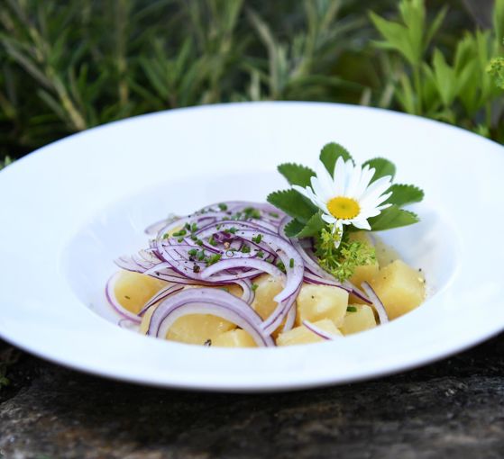
[[[175,320],[187,314],[212,314],[233,322],[248,332],[261,347],[275,346],[261,329],[261,317],[242,299],[219,289],[189,289],[170,296],[152,313],[147,334],[165,338]]]

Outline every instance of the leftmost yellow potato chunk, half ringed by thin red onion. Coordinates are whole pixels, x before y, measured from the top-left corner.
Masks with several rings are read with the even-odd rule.
[[[130,271],[120,271],[115,282],[115,298],[124,309],[138,314],[143,305],[168,283]]]

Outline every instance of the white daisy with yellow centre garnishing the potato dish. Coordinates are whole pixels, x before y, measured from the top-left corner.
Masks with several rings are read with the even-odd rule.
[[[319,161],[316,176],[311,177],[311,187],[292,187],[306,196],[321,211],[322,219],[334,225],[334,231],[343,234],[344,225],[358,229],[371,229],[368,219],[376,217],[390,204],[382,204],[392,193],[386,193],[391,185],[391,176],[379,178],[372,184],[373,168],[354,166],[351,159],[338,157],[334,166],[334,178]]]

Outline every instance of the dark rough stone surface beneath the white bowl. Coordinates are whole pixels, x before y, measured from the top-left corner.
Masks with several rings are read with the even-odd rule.
[[[25,354],[7,376],[6,458],[504,457],[504,334],[405,374],[283,394],[152,389]]]

